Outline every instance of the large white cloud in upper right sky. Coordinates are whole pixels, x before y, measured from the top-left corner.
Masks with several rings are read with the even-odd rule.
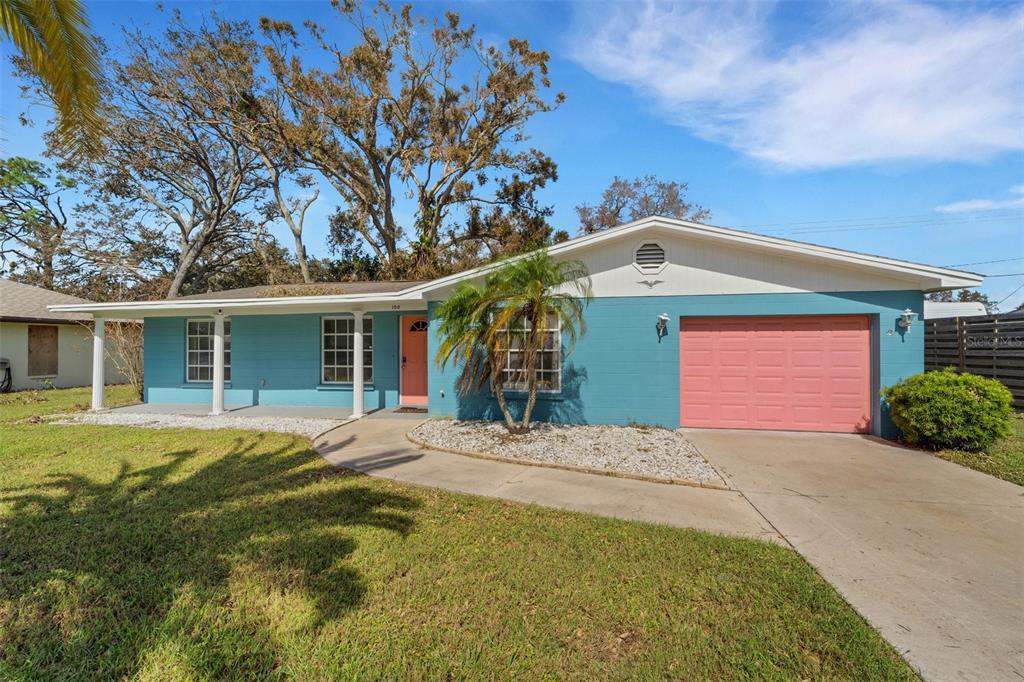
[[[596,76],[771,165],[982,160],[1024,150],[1024,14],[851,5],[780,39],[765,3],[580,3],[570,39]],[[793,27],[785,27],[791,34]]]

